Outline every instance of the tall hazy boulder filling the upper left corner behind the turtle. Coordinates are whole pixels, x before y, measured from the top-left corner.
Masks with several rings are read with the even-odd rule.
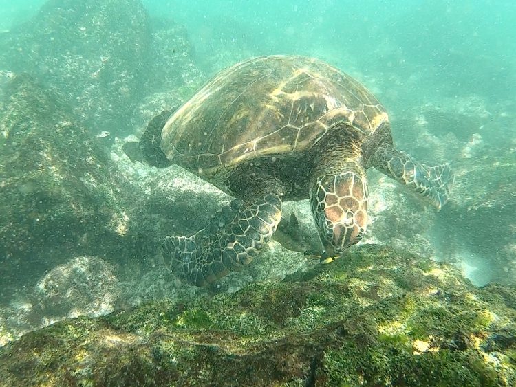
[[[149,76],[150,46],[140,0],[47,1],[0,35],[0,68],[51,85],[85,126],[120,133]]]

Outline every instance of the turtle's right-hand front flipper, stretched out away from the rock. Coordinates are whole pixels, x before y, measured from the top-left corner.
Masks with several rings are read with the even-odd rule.
[[[412,188],[438,210],[447,203],[453,184],[453,174],[448,164],[427,166],[394,148],[385,150],[381,155],[374,164],[380,172]]]

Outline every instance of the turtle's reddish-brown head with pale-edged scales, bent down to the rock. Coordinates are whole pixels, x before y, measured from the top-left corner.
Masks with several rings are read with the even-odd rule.
[[[367,179],[363,168],[327,173],[310,187],[310,205],[325,251],[321,262],[333,261],[360,241],[367,225]]]

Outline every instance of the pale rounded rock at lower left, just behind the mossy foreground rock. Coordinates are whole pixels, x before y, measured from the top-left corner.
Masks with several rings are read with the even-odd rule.
[[[67,317],[111,313],[121,294],[113,265],[92,256],[72,258],[0,303],[0,346]]]

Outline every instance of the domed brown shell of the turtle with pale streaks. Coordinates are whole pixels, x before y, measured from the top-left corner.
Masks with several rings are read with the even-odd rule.
[[[161,147],[168,159],[221,186],[217,177],[241,163],[295,157],[338,123],[366,136],[384,120],[372,93],[335,67],[303,56],[261,56],[224,69],[175,111]]]

